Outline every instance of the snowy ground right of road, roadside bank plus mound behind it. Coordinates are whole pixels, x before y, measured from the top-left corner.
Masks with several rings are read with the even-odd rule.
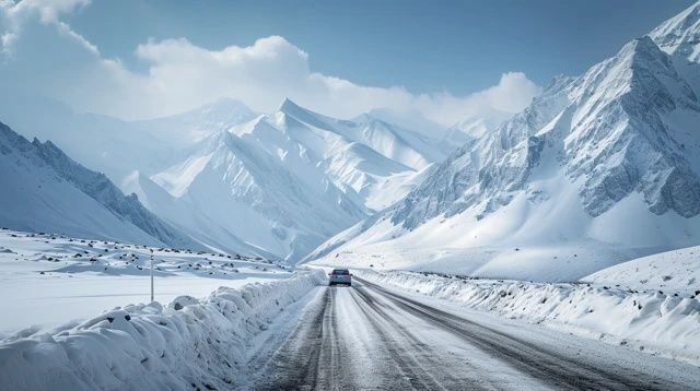
[[[700,286],[697,283],[700,269],[697,262],[693,264],[697,258],[687,258],[697,250],[642,258],[573,283],[479,280],[398,271],[354,270],[353,273],[382,286],[400,287],[697,365],[700,363]],[[650,264],[654,266],[639,272]],[[658,277],[648,276],[651,271],[658,273]],[[640,284],[634,281],[640,276],[648,280]],[[692,283],[688,285],[688,282]]]

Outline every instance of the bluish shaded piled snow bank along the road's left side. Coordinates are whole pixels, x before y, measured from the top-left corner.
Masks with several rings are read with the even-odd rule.
[[[0,341],[0,389],[226,389],[244,343],[324,281],[320,271],[105,312],[56,334]]]

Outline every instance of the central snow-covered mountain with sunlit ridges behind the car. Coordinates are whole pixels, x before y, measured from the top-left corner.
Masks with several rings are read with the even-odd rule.
[[[294,261],[399,200],[448,152],[371,115],[339,120],[288,99],[129,189],[199,240]]]

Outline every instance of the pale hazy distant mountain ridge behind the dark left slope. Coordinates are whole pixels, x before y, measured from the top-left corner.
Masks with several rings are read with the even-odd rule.
[[[0,118],[14,131],[27,139],[51,140],[119,186],[135,170],[160,173],[189,155],[197,142],[255,116],[237,100],[220,99],[180,115],[129,122],[75,112],[34,95],[0,96]]]

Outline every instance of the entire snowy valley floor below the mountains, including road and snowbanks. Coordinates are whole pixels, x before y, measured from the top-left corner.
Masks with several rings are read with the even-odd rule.
[[[669,289],[698,277],[696,249],[579,283],[359,270],[330,288],[236,256],[11,230],[0,246],[3,390],[700,384],[700,303]],[[160,303],[129,305],[149,300],[151,253]],[[662,277],[608,283],[638,282],[638,263]]]

